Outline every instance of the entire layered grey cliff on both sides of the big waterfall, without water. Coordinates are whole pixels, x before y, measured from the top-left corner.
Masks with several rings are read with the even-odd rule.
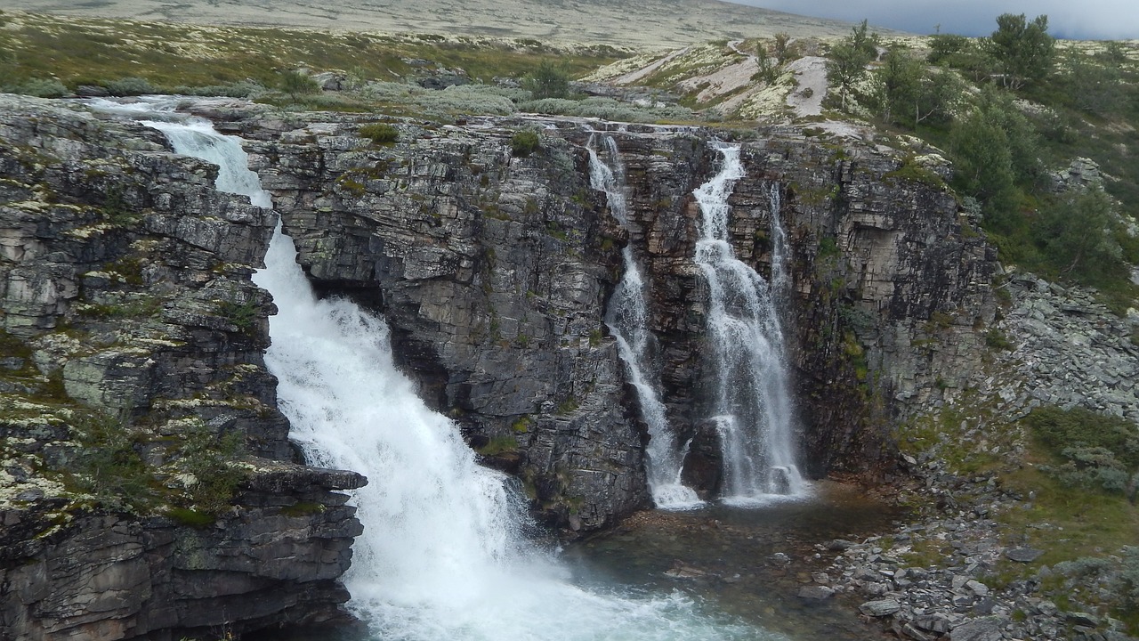
[[[216,193],[213,168],[145,127],[0,100],[0,631],[161,639],[339,617],[359,522],[336,490],[364,479],[301,465],[276,408],[262,360],[272,303],[249,274],[277,217]],[[716,170],[716,136],[743,145],[732,242],[764,275],[779,195],[812,476],[888,478],[891,427],[981,372],[994,255],[948,169],[910,143],[608,131],[628,173],[625,229],[590,187],[600,123],[396,123],[398,140],[376,143],[363,115],[194,108],[245,138],[318,292],[382,314],[427,403],[566,532],[649,504],[647,433],[604,322],[626,244],[646,267],[670,422],[714,459],[691,193]],[[517,144],[524,129],[536,148]],[[232,506],[203,510],[187,470],[232,435],[243,449],[214,461],[240,471]],[[103,449],[142,462],[141,498],[98,488],[90,452]]]

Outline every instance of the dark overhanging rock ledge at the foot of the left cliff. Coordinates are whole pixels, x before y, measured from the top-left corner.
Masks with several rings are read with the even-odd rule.
[[[6,639],[224,638],[344,619],[338,578],[361,532],[336,489],[351,472],[259,471],[212,524],[81,511],[5,512],[0,630]],[[31,536],[30,536],[31,535]]]

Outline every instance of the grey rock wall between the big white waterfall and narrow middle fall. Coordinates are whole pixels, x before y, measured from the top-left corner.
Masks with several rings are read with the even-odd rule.
[[[493,444],[487,461],[549,522],[596,529],[644,506],[642,436],[603,322],[621,230],[581,148],[546,137],[514,155],[503,127],[401,125],[374,145],[321,115],[231,125],[317,290],[383,314],[420,396]]]

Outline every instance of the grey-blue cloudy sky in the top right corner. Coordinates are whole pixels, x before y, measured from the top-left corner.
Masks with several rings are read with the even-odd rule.
[[[989,35],[1000,14],[1046,14],[1048,33],[1057,38],[1139,38],[1139,0],[729,0],[792,14],[870,21],[900,31]]]

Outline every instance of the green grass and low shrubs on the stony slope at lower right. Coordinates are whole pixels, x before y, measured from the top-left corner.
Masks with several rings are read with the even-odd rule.
[[[995,477],[998,487],[1024,497],[994,510],[992,518],[1001,524],[1005,545],[1029,546],[1043,554],[1029,563],[1001,558],[983,577],[984,583],[1001,589],[1036,577],[1047,566],[1052,575],[1044,581],[1040,597],[1067,611],[1112,614],[1123,619],[1132,633],[1139,632],[1129,587],[1132,577],[1126,574],[1134,570],[1117,576],[1123,571],[1117,557],[1129,558],[1126,546],[1134,545],[1139,535],[1139,508],[1123,490],[1084,482],[1098,481],[1099,477],[1089,473],[1095,471],[1095,463],[1077,459],[1081,452],[1100,447],[1116,454],[1112,465],[1124,465],[1134,473],[1139,471],[1139,430],[1122,419],[1079,408],[1041,407],[1019,421],[1008,422],[1001,419],[998,407],[984,399],[967,400],[970,403],[964,407],[947,407],[936,415],[909,422],[895,437],[903,452],[931,452],[957,474]],[[969,429],[982,420],[984,430]],[[990,452],[978,447],[981,439],[990,446],[999,445],[1006,453],[1014,452],[1019,443],[1024,453],[997,456],[992,447]],[[906,561],[919,567],[940,566],[953,553],[949,542],[927,538],[913,543]],[[1083,567],[1105,567],[1115,574],[1073,576],[1072,568]],[[1092,578],[1106,583],[1097,587]]]

